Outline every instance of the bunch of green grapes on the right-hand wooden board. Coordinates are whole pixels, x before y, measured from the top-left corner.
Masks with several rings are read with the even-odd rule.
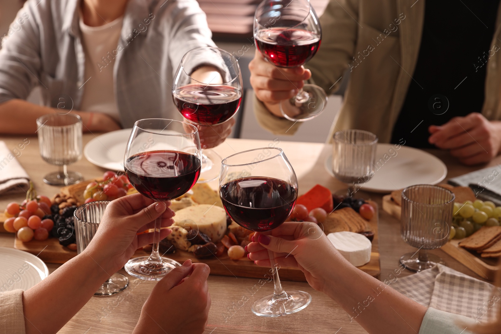
[[[454,203],[450,239],[462,239],[470,236],[482,226],[499,226],[501,206],[495,206],[491,201]]]

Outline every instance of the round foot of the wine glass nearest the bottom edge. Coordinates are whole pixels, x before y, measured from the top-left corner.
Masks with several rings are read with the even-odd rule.
[[[304,291],[288,291],[283,298],[270,294],[257,300],[252,305],[252,311],[258,316],[281,316],[296,313],[311,301],[312,296]]]

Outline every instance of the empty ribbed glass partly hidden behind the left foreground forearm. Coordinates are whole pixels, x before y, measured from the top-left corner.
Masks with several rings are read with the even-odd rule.
[[[103,217],[109,201],[95,201],[84,204],[75,210],[73,219],[75,221],[75,231],[77,233],[77,253],[80,254],[89,245]],[[121,273],[114,273],[101,287],[94,293],[96,296],[109,296],[122,291],[129,285],[127,276]]]

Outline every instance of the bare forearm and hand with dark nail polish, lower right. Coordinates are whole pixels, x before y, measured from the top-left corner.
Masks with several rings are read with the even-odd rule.
[[[256,264],[270,266],[268,249],[277,252],[280,266],[299,267],[313,288],[334,299],[369,333],[419,331],[426,307],[353,266],[317,224],[285,222],[266,234],[256,233],[246,247]]]

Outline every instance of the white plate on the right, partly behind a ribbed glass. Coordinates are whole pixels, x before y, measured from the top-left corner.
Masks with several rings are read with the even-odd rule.
[[[325,159],[325,169],[334,176],[332,153]],[[396,150],[393,144],[378,144],[374,176],[368,182],[360,184],[359,188],[389,193],[414,184],[437,184],[446,175],[445,164],[429,153],[407,146],[400,146]]]

